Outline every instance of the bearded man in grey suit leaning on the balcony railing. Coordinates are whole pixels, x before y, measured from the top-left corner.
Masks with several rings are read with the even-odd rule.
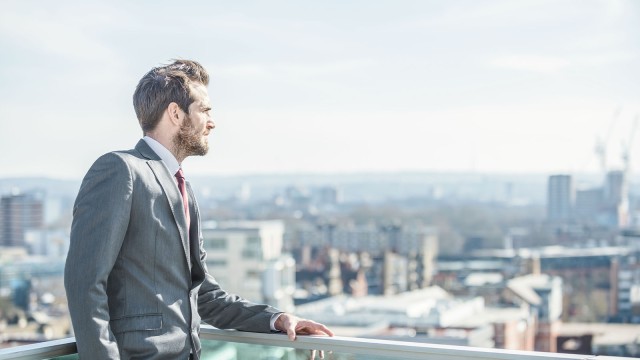
[[[199,359],[200,320],[223,329],[332,336],[324,325],[222,290],[181,169],[215,127],[197,62],[157,67],[133,96],[144,134],[100,157],[73,209],[65,288],[82,359]],[[312,357],[314,355],[312,354]]]

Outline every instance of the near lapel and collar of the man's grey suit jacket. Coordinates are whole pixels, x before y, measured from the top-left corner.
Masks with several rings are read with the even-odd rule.
[[[169,173],[167,167],[162,162],[162,159],[147,145],[144,140],[140,140],[136,145],[136,150],[142,154],[142,156],[148,159],[147,164],[151,171],[153,172],[156,180],[164,190],[164,194],[167,197],[167,201],[169,202],[169,208],[171,209],[171,213],[173,215],[173,219],[178,227],[178,232],[180,233],[180,241],[182,242],[182,248],[184,250],[184,255],[187,260],[187,264],[189,265],[189,269],[191,269],[191,257],[189,256],[190,246],[189,246],[189,236],[187,234],[187,219],[184,214],[184,208],[182,206],[182,196],[180,195],[180,191],[178,190],[178,186],[174,181],[174,177]]]

